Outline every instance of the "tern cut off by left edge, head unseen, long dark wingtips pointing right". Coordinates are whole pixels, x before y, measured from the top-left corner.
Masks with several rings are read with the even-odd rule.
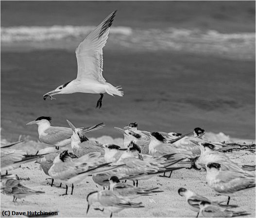
[[[5,147],[5,146],[4,146]],[[42,155],[28,155],[26,152],[9,147],[1,148],[1,171],[10,171],[18,168],[21,164],[33,162],[42,158]]]

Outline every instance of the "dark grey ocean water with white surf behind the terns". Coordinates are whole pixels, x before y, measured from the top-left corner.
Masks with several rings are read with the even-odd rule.
[[[94,138],[118,139],[114,126],[137,122],[148,131],[187,133],[200,126],[215,136],[255,141],[254,4],[101,4],[1,3],[3,140],[36,144],[36,126],[25,124],[51,116],[55,126],[68,126],[66,119],[77,126],[104,122],[88,135]],[[76,77],[75,48],[113,8],[120,12],[103,50],[103,76],[121,85],[124,96],[105,94],[102,109],[95,109],[95,94],[44,101],[43,94]]]

